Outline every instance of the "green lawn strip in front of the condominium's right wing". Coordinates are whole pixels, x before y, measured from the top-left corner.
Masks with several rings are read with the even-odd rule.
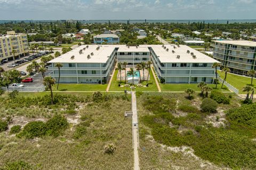
[[[209,84],[215,90],[215,84]],[[223,89],[220,89],[220,84],[218,85],[217,90],[228,92],[228,88],[225,86]],[[192,88],[196,92],[200,92],[200,88],[197,87],[197,84],[160,84],[161,90],[163,92],[184,92],[186,88]]]

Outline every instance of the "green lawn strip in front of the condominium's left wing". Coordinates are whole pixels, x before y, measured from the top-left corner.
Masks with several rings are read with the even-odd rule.
[[[106,91],[107,84],[57,84],[52,88],[53,91]]]

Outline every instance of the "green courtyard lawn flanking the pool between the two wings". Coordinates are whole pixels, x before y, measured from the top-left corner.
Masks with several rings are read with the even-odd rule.
[[[110,85],[109,91],[124,91],[124,90],[131,90],[130,87],[119,87],[118,84],[120,83],[119,80],[117,80],[117,74],[118,70],[115,70],[114,77],[112,80],[112,83]],[[142,82],[141,84],[146,85],[147,81]],[[148,87],[138,87],[136,86],[136,91],[158,91],[156,82],[152,73],[152,70],[150,70],[150,80],[148,81],[149,86]],[[122,81],[121,86],[125,85],[125,82]]]

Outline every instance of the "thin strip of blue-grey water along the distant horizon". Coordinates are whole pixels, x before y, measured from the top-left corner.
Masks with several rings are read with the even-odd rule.
[[[0,23],[6,23],[6,22],[21,22],[24,21],[26,23],[29,23],[31,20],[0,20]],[[57,20],[33,20],[31,22],[50,22],[50,21],[57,21]],[[65,22],[66,20],[58,20],[61,22]],[[76,20],[75,20],[76,21]],[[82,23],[127,23],[127,20],[78,20]],[[255,20],[218,20],[218,23],[255,23]],[[129,20],[130,23],[143,23],[145,20]],[[148,23],[193,23],[193,22],[205,22],[205,23],[217,23],[217,20],[147,20]]]

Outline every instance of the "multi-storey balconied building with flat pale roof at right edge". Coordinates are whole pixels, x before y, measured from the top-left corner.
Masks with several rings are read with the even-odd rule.
[[[220,61],[222,67],[230,72],[246,75],[249,70],[256,70],[256,42],[250,41],[212,41],[213,58]]]

